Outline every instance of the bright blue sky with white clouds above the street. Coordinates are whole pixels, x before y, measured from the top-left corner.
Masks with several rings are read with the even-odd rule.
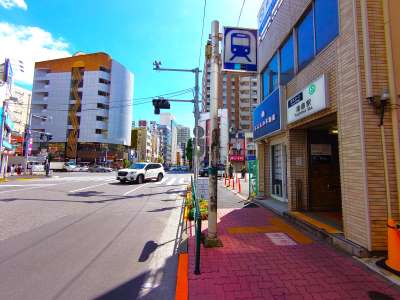
[[[35,61],[77,51],[106,52],[134,74],[134,120],[155,120],[151,99],[194,87],[191,73],[156,72],[162,67],[203,68],[211,22],[256,28],[262,0],[0,0],[0,60],[22,60],[17,84],[32,85]],[[200,55],[201,51],[201,55]],[[200,57],[200,64],[199,64]],[[200,82],[201,85],[201,82]],[[176,99],[192,99],[192,92]],[[148,101],[148,102],[147,102]],[[179,124],[193,128],[193,105],[171,103]]]

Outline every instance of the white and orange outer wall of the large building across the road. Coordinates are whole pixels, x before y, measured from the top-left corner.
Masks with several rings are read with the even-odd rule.
[[[105,53],[75,55],[72,57],[37,62],[33,82],[32,112],[51,116],[54,121],[43,122],[32,119],[33,129],[50,132],[54,142],[67,141],[69,105],[71,91],[71,70],[84,68],[79,139],[80,143],[110,143],[129,145],[132,121],[133,75],[120,63]],[[108,69],[100,70],[100,67]],[[99,79],[110,83],[100,83]],[[101,96],[98,91],[108,93]],[[109,105],[100,109],[98,103]],[[46,109],[47,105],[47,109]],[[102,116],[104,121],[96,120]],[[102,133],[96,133],[101,129]]]

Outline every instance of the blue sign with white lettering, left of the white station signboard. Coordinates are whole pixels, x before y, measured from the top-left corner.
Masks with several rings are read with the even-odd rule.
[[[253,112],[253,136],[260,139],[281,129],[279,89],[276,89]]]

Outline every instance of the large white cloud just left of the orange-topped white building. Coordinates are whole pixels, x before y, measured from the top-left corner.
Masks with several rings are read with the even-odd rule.
[[[25,71],[15,76],[25,84],[32,84],[35,62],[71,56],[67,42],[39,27],[0,22],[0,45],[1,61],[7,57],[23,62]]]

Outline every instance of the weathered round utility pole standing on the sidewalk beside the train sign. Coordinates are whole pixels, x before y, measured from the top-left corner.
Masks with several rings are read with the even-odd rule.
[[[208,201],[208,236],[206,246],[220,246],[217,237],[217,184],[218,184],[218,156],[219,156],[219,132],[218,132],[218,91],[219,91],[219,22],[213,21],[211,25],[211,78],[210,78],[210,174],[209,174],[209,201]]]

